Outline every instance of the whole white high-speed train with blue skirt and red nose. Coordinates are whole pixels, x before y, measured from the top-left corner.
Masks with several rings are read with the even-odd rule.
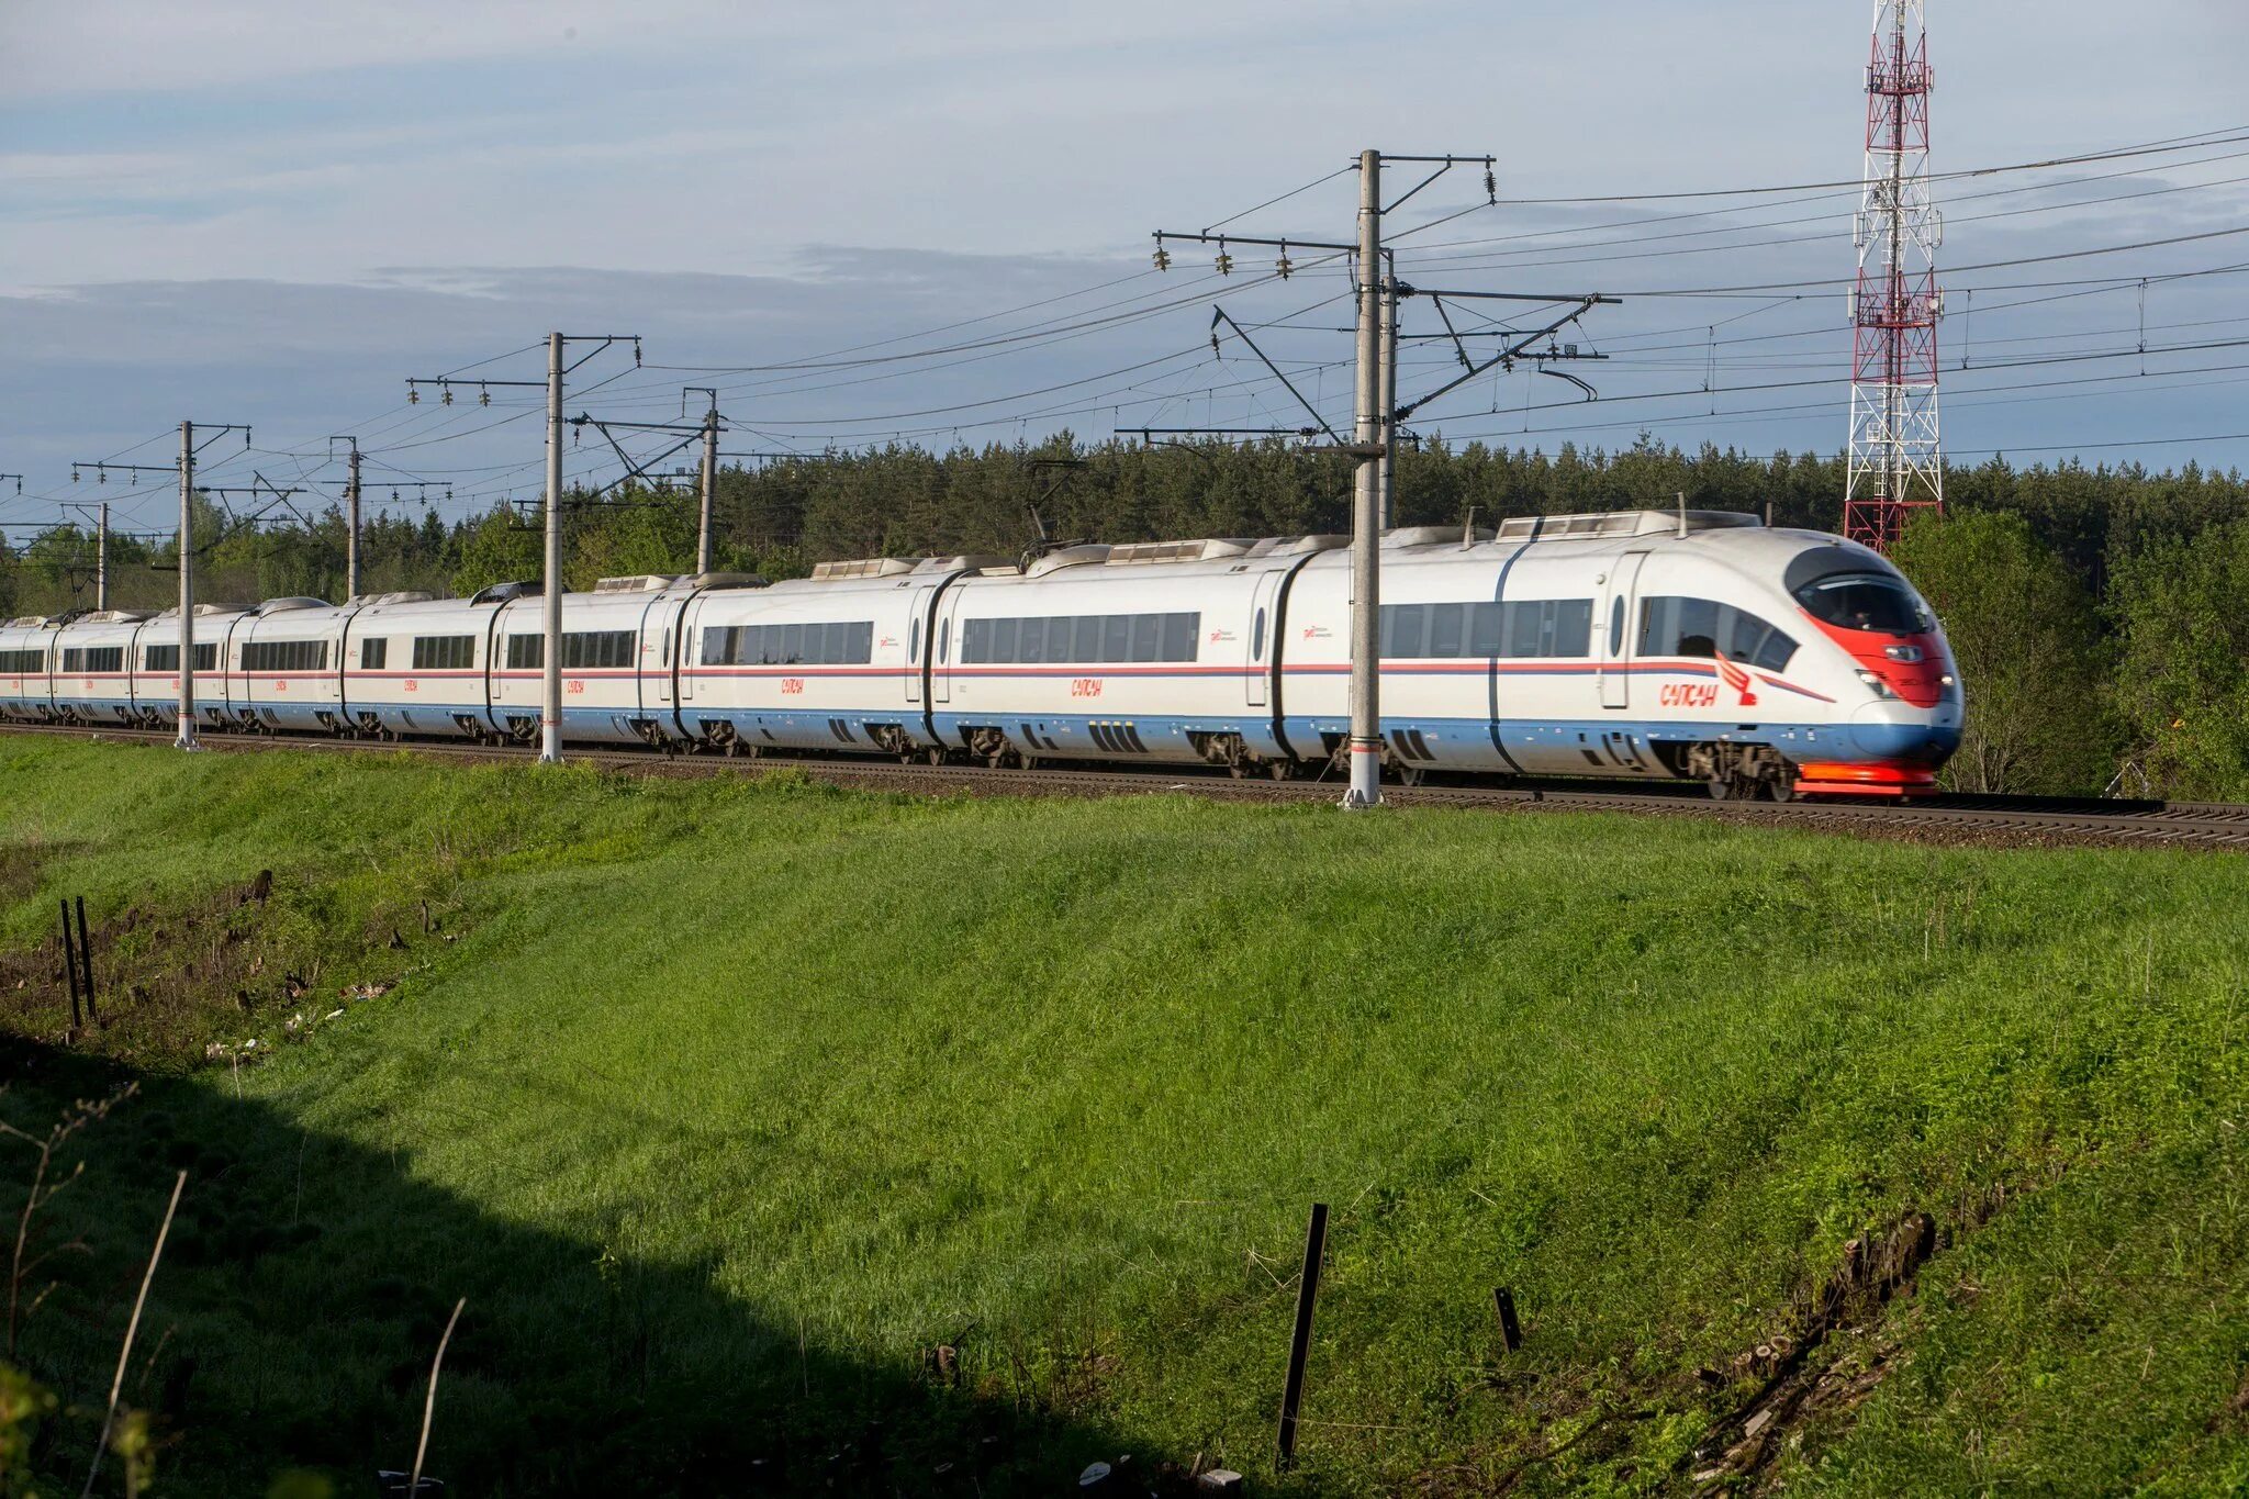
[[[1714,796],[1934,787],[1961,685],[1878,553],[1729,512],[1523,517],[1383,537],[1385,766],[1700,780]],[[1298,775],[1349,728],[1345,537],[612,578],[564,598],[578,742]],[[0,627],[0,715],[173,721],[178,614]],[[531,742],[535,584],[198,609],[214,728]]]

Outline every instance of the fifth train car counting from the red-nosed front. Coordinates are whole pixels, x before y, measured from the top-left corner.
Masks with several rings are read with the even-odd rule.
[[[499,582],[475,598],[382,593],[342,632],[342,726],[351,733],[439,739],[493,737],[493,641],[502,607],[533,582]]]

